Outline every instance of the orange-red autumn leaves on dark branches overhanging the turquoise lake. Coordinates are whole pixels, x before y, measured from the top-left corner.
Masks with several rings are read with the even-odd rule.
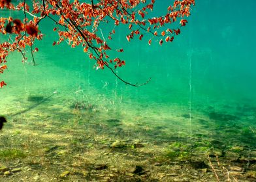
[[[57,32],[58,37],[52,45],[67,40],[71,47],[82,46],[89,59],[95,60],[95,68],[109,68],[121,79],[115,69],[125,65],[125,60],[109,56],[109,51],[125,52],[122,47],[108,45],[116,32],[115,27],[120,24],[127,25],[128,42],[135,38],[144,40],[145,34],[150,34],[149,40],[146,41],[149,45],[155,41],[160,45],[172,42],[174,37],[180,34],[181,27],[187,24],[185,18],[190,16],[191,6],[195,5],[195,0],[175,0],[165,11],[163,10],[163,15],[158,17],[150,16],[154,5],[155,0],[24,0],[21,3],[0,0],[1,9],[20,11],[23,15],[20,19],[0,17],[0,36],[8,38],[8,41],[0,42],[0,73],[7,69],[6,63],[10,52],[19,51],[25,61],[24,53],[27,49],[31,49],[32,54],[39,51],[33,44],[35,40],[43,38],[40,21],[54,21],[56,27],[53,31]],[[113,29],[108,32],[105,39],[105,31],[101,30],[100,27],[103,26],[100,25],[111,23]],[[1,81],[0,86],[4,85],[6,83]]]

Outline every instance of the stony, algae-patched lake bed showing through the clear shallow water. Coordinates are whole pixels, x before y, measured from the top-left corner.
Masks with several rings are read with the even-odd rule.
[[[6,107],[0,181],[256,181],[254,107],[155,122],[44,99]]]

